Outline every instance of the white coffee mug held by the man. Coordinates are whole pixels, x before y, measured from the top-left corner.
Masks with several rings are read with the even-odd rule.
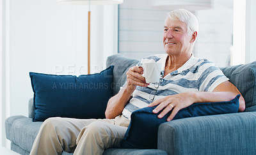
[[[142,63],[143,77],[147,83],[159,82],[162,63]]]

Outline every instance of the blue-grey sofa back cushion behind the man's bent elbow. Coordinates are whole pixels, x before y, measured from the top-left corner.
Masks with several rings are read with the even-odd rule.
[[[227,66],[221,70],[243,95],[246,105],[244,112],[256,111],[256,61]]]

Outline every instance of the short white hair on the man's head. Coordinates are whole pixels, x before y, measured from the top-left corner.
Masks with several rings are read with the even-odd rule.
[[[193,13],[184,9],[177,9],[168,13],[171,20],[179,20],[187,24],[188,34],[191,35],[195,31],[198,32],[198,20]]]

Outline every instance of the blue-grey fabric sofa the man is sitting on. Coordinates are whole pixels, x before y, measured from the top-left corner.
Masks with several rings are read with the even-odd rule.
[[[138,63],[116,54],[108,57],[114,66],[113,88],[116,94],[125,82],[126,71]],[[256,62],[221,68],[246,101],[244,112],[190,117],[165,122],[159,126],[157,149],[106,149],[104,154],[256,154]],[[33,99],[28,117],[6,119],[6,138],[11,149],[29,154],[42,122],[32,122]],[[63,152],[63,154],[68,154]]]

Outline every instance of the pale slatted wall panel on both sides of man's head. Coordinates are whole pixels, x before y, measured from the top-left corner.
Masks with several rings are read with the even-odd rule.
[[[163,25],[168,11],[157,10],[148,0],[129,0],[120,4],[119,49],[128,57],[141,59],[164,54]],[[194,11],[199,22],[196,57],[227,66],[232,45],[232,0],[212,0],[211,9]]]

